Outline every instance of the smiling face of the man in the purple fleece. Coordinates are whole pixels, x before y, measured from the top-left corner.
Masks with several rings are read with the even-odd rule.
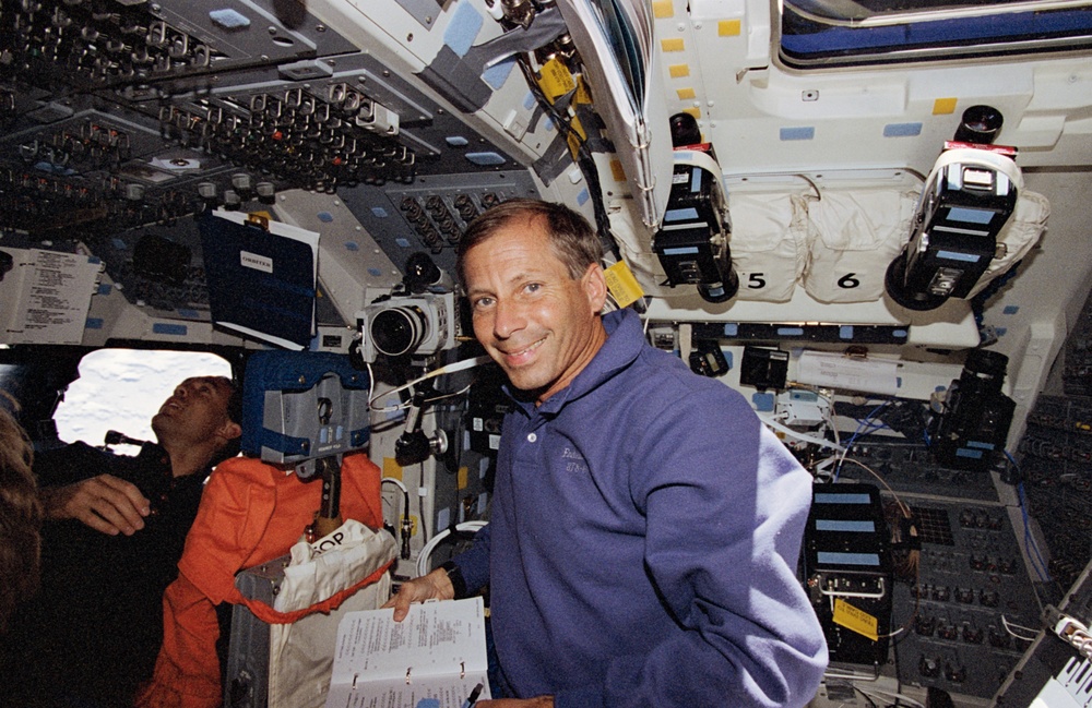
[[[512,385],[538,403],[568,386],[606,340],[602,267],[572,279],[536,221],[506,225],[463,264],[474,335]]]

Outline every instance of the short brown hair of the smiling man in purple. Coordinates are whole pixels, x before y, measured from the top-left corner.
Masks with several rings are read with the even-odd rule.
[[[466,232],[459,240],[455,261],[460,281],[466,284],[463,272],[466,253],[505,226],[521,219],[542,225],[554,255],[565,264],[573,279],[580,278],[587,266],[603,259],[603,243],[587,219],[578,212],[565,204],[514,199],[484,212],[466,227]]]

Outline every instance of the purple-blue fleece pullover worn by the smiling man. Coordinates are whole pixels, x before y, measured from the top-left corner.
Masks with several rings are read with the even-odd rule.
[[[489,584],[505,679],[557,708],[804,706],[827,665],[795,568],[811,477],[737,392],[604,317],[594,360],[505,419]]]

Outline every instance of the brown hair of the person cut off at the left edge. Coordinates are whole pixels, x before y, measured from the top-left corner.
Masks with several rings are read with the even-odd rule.
[[[41,503],[26,432],[0,408],[0,632],[15,604],[38,589]]]

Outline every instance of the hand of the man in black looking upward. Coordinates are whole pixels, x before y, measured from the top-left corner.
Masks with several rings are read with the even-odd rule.
[[[38,499],[51,520],[76,519],[96,531],[132,536],[144,528],[151,502],[135,484],[99,475],[63,487],[44,487]]]

